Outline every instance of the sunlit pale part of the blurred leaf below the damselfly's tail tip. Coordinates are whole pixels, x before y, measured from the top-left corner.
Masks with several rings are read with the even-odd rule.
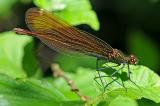
[[[14,78],[26,77],[22,67],[23,49],[31,41],[31,37],[18,36],[14,32],[0,34],[0,73]]]

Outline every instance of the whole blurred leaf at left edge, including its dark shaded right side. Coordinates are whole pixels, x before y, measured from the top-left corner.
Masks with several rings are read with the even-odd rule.
[[[14,32],[1,33],[0,48],[0,73],[14,78],[41,76],[31,37]]]

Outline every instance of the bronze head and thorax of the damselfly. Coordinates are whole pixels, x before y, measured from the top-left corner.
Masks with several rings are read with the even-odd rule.
[[[126,56],[118,49],[113,49],[112,53],[108,53],[108,60],[110,62],[114,62],[117,64],[121,64],[121,63],[137,64],[138,63],[138,59],[134,55]]]

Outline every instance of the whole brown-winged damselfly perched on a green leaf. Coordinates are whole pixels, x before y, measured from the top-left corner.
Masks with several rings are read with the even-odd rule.
[[[124,55],[121,51],[113,49],[103,40],[70,26],[56,15],[44,9],[29,9],[26,12],[25,21],[30,31],[14,28],[16,33],[34,36],[50,48],[59,52],[76,52],[96,57],[98,77],[95,77],[95,80],[99,78],[104,89],[106,89],[110,83],[105,85],[101,79],[105,76],[100,75],[99,71],[101,68],[98,68],[99,59],[114,62],[118,65],[123,64],[123,67],[127,65],[128,79],[132,81],[130,79],[129,64],[137,64],[137,58],[134,55]],[[119,70],[116,70],[111,77],[118,71]]]

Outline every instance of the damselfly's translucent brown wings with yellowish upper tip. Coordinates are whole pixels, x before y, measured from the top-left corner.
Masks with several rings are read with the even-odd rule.
[[[32,32],[49,47],[60,52],[78,52],[107,56],[112,47],[101,39],[70,26],[54,14],[39,8],[26,12],[26,23]]]

